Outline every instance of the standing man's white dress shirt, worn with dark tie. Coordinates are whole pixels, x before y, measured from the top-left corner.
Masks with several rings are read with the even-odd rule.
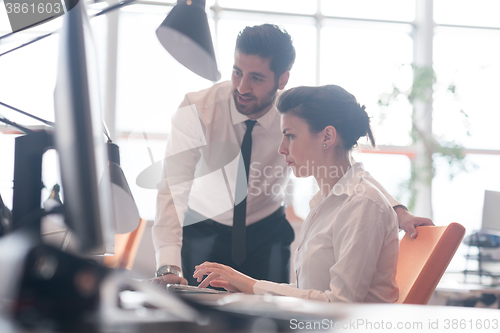
[[[174,167],[180,164],[185,174],[183,177],[173,177],[164,170],[164,179],[159,184],[153,226],[157,268],[163,265],[182,267],[182,227],[185,225],[184,213],[188,206],[207,218],[232,225],[238,158],[241,154],[224,168],[211,173],[207,173],[206,167],[199,162],[204,160],[205,164],[210,164],[213,159],[217,160],[216,148],[220,147],[220,143],[232,144],[239,150],[247,119],[236,109],[229,81],[185,96],[172,118],[172,131],[165,153],[166,160],[181,156],[175,161]],[[272,214],[284,199],[284,189],[291,170],[285,158],[278,153],[282,138],[280,122],[280,115],[273,106],[257,119],[252,131],[247,225]],[[204,147],[208,149],[203,153],[197,151],[197,148]],[[400,204],[368,173],[365,178],[370,179],[386,195],[392,206]]]

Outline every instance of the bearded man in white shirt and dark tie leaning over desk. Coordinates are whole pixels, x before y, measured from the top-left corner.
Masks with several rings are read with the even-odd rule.
[[[277,153],[281,131],[274,102],[294,60],[286,31],[270,24],[246,27],[236,41],[231,81],[186,95],[172,120],[158,192],[154,282],[194,285],[194,266],[204,261],[288,282],[294,234],[282,207],[289,173]],[[241,158],[230,153],[234,146],[236,155],[241,147]],[[400,228],[416,236],[415,226],[432,224],[367,178],[394,207]]]

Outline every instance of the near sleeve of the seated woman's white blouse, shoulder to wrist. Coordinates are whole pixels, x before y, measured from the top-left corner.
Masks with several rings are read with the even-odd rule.
[[[354,196],[336,219],[341,223],[331,229],[335,263],[329,268],[330,290],[258,281],[254,292],[324,302],[395,302],[399,248],[395,213],[389,206]]]

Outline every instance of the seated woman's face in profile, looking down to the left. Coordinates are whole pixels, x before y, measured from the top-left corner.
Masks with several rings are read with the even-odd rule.
[[[307,123],[292,114],[281,115],[283,138],[278,152],[296,177],[309,177],[318,167],[322,154],[321,136],[309,131]]]

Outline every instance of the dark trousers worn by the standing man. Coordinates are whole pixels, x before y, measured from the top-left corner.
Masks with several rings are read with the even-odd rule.
[[[188,209],[186,221],[199,214]],[[268,217],[246,227],[246,260],[236,265],[231,260],[232,227],[207,219],[183,228],[182,271],[190,285],[194,266],[205,261],[221,263],[258,280],[278,283],[290,281],[290,244],[293,228],[283,207]]]

